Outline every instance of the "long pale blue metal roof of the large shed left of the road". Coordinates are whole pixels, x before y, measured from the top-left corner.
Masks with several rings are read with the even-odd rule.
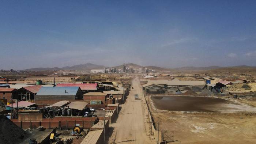
[[[42,87],[37,95],[76,95],[79,87]]]

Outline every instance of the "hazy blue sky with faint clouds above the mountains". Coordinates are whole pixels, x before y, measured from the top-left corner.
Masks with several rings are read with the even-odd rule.
[[[256,0],[2,0],[0,69],[256,64]]]

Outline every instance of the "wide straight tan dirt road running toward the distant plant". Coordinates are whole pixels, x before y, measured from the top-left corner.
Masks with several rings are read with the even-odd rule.
[[[121,110],[116,123],[109,126],[114,128],[112,136],[109,139],[110,144],[153,144],[146,134],[144,124],[145,115],[142,107],[142,91],[139,85],[139,79],[132,80],[132,87],[126,102],[120,105]],[[139,94],[139,100],[135,100],[134,94]]]

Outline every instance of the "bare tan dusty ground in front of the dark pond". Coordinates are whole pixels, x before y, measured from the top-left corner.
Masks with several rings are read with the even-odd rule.
[[[239,101],[239,100],[238,100]],[[256,113],[181,112],[153,109],[165,140],[182,144],[255,144]],[[167,131],[167,132],[166,132]]]

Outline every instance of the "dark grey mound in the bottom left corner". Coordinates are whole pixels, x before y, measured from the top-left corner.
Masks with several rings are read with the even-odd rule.
[[[27,132],[15,125],[4,115],[0,115],[0,141],[5,144],[18,144],[26,137]]]

